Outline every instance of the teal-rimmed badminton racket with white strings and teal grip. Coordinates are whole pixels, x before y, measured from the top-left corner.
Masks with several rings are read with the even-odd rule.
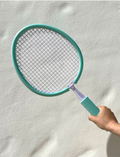
[[[63,31],[44,24],[32,24],[14,37],[11,48],[14,68],[26,87],[42,96],[56,96],[70,89],[91,114],[98,107],[78,91],[83,69],[81,50]]]

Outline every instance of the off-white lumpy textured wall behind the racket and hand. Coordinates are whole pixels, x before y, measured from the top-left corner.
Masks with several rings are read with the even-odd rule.
[[[72,91],[46,98],[19,80],[11,43],[34,23],[77,42],[84,57],[78,89],[120,121],[120,2],[0,2],[0,157],[120,157],[120,138],[90,122]]]

